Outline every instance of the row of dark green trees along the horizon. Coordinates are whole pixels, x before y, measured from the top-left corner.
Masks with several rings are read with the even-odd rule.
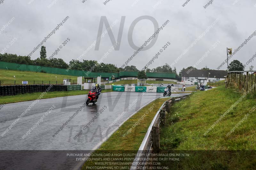
[[[136,66],[125,66],[124,68],[117,68],[114,64],[105,64],[105,63],[98,63],[95,60],[71,60],[69,64],[67,64],[61,58],[47,58],[46,55],[46,48],[44,46],[41,47],[40,57],[36,58],[35,60],[31,60],[29,56],[17,56],[16,54],[0,54],[0,61],[11,62],[11,63],[18,63],[18,64],[29,64],[29,65],[38,65],[44,67],[56,67],[61,69],[72,69],[72,70],[90,70],[93,66],[95,66],[95,72],[119,72],[119,71],[139,71]],[[232,61],[229,66],[229,71],[243,71],[244,65],[239,62],[238,60]],[[250,69],[253,67],[251,66]],[[181,76],[181,72],[184,70],[180,70],[179,76]],[[190,66],[186,69],[194,69],[196,68]],[[207,66],[202,68],[201,70],[211,70]],[[171,66],[166,63],[163,66],[156,67],[154,69],[147,69],[146,72],[160,72],[160,73],[174,73],[177,75],[177,70],[171,68]]]

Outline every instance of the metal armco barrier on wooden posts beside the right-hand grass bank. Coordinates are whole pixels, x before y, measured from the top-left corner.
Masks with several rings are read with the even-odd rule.
[[[149,125],[148,131],[140,145],[140,148],[137,152],[137,155],[133,161],[133,164],[130,168],[132,169],[144,169],[144,165],[147,162],[147,158],[149,156],[146,156],[147,154],[150,155],[150,153],[159,153],[160,151],[160,134],[159,134],[159,128],[160,125],[164,126],[165,123],[165,115],[166,112],[171,112],[171,106],[174,104],[175,101],[181,100],[183,98],[186,98],[187,96],[177,97],[177,98],[171,98],[164,102],[164,104],[159,108],[157,111],[154,119],[152,120],[151,124]],[[142,155],[142,156],[139,156]]]

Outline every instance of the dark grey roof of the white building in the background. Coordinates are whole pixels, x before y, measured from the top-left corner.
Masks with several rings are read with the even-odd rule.
[[[228,72],[225,70],[188,70],[185,69],[182,72],[182,77],[208,77],[210,73],[210,78],[224,78],[227,76]]]

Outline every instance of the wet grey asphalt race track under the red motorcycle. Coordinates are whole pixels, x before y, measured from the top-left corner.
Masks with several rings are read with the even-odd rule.
[[[144,93],[142,95],[141,92],[102,93],[96,104],[90,103],[85,106],[71,120],[70,116],[83,106],[87,95],[39,100],[28,113],[14,124],[12,129],[3,137],[0,136],[0,169],[78,169],[83,162],[75,161],[74,158],[70,159],[66,156],[67,153],[90,152],[97,149],[135,112],[162,95],[163,93]],[[183,95],[186,94],[172,94],[172,96]],[[133,102],[139,98],[141,100]],[[0,110],[0,135],[32,103],[33,101],[6,104]],[[134,104],[132,105],[132,103]],[[129,105],[132,105],[130,109]],[[54,109],[49,113],[48,110],[51,107]],[[100,111],[101,109],[103,112]],[[110,126],[125,110],[125,114],[119,116],[116,123]],[[44,119],[41,122],[39,120],[42,116]],[[91,121],[93,117],[94,122]],[[54,136],[56,131],[68,120],[70,121],[63,130]],[[88,125],[90,121],[91,123]],[[30,134],[27,133],[28,135],[23,139],[22,136],[35,124],[37,126],[34,126],[35,128],[31,130]],[[82,135],[74,139],[80,130],[82,130]],[[105,131],[106,133],[104,133]]]

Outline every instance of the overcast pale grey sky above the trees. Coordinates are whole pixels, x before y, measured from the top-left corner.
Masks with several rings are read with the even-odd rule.
[[[236,0],[217,1],[204,9],[206,0],[191,0],[183,7],[185,0],[112,0],[106,5],[103,0],[82,0],[67,1],[55,0],[56,4],[48,6],[53,0],[4,0],[0,4],[0,29],[11,18],[15,18],[8,27],[0,32],[0,50],[6,48],[8,43],[16,38],[17,41],[7,48],[7,53],[17,55],[28,55],[44,37],[47,36],[66,16],[69,19],[53,34],[45,43],[47,57],[50,57],[55,49],[59,48],[63,41],[70,39],[68,44],[61,49],[56,58],[62,58],[65,62],[77,59],[83,51],[97,39],[100,18],[106,16],[111,25],[115,20],[119,22],[112,28],[115,39],[119,31],[121,17],[125,16],[124,30],[120,49],[112,51],[103,63],[121,65],[133,54],[134,49],[128,43],[128,30],[134,19],[148,15],[154,17],[159,26],[166,20],[170,20],[158,35],[155,45],[141,51],[128,65],[135,65],[142,69],[150,61],[155,53],[167,43],[171,46],[164,50],[161,55],[152,63],[149,68],[168,63],[171,65],[190,44],[201,35],[212,22],[219,18],[219,21],[205,34],[197,43],[174,64],[177,71],[183,67],[194,65],[211,45],[220,41],[216,48],[202,63],[196,66],[198,69],[207,65],[211,69],[216,69],[226,58],[226,48],[238,48],[245,39],[256,31],[256,0]],[[132,6],[133,3],[136,3]],[[157,2],[161,4],[156,5]],[[152,6],[156,5],[154,9]],[[105,26],[103,31],[106,30]],[[153,23],[149,20],[141,20],[134,28],[133,41],[137,46],[141,46],[144,41],[154,33]],[[240,49],[231,59],[237,59],[245,64],[253,54],[256,37],[253,37],[247,45]],[[85,60],[100,60],[100,58],[112,46],[108,34],[101,39],[98,51],[94,47],[82,57]],[[36,59],[40,55],[40,49],[31,56]],[[256,60],[256,59],[255,59]],[[249,70],[249,64],[246,69]],[[173,67],[174,67],[173,66]],[[254,68],[254,70],[256,67]],[[221,70],[226,70],[223,66]]]

